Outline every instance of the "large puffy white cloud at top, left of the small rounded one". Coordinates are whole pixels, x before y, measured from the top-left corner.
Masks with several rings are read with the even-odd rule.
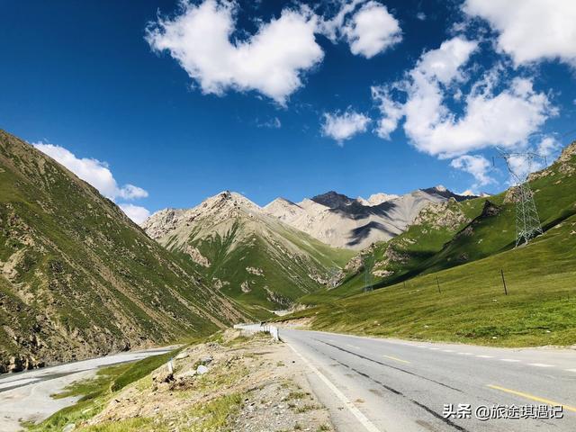
[[[146,40],[167,50],[204,93],[256,90],[284,104],[302,86],[302,73],[324,56],[314,35],[317,16],[304,6],[284,9],[248,40],[232,42],[234,14],[233,2],[184,0],[181,14],[148,26]]]

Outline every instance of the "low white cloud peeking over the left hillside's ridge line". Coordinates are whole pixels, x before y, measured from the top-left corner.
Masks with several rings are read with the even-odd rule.
[[[135,186],[134,184],[124,184],[123,186],[119,186],[112,175],[110,167],[105,162],[91,157],[76,157],[76,155],[67,148],[44,142],[35,142],[32,143],[32,146],[38,148],[42,153],[49,157],[52,157],[59,164],[66,166],[67,169],[72,171],[86,183],[92,184],[98,192],[102,193],[106,198],[109,198],[112,201],[119,198],[122,200],[136,200],[148,196],[147,191],[139,186]],[[136,206],[132,205],[132,207]],[[140,214],[142,214],[142,212],[140,212]]]

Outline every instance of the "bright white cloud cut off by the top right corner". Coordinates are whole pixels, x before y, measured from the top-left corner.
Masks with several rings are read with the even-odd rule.
[[[466,0],[464,12],[498,31],[498,48],[517,65],[558,58],[576,67],[574,0]]]

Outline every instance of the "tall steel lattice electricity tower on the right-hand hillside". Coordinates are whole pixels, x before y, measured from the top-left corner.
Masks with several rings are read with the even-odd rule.
[[[521,244],[527,244],[530,239],[542,234],[540,218],[534,202],[534,193],[530,189],[527,177],[531,172],[532,164],[536,158],[544,158],[532,152],[510,153],[498,149],[499,158],[506,161],[510,176],[514,181],[514,192],[516,193],[516,247]],[[518,172],[513,161],[525,161],[527,169],[525,173]]]

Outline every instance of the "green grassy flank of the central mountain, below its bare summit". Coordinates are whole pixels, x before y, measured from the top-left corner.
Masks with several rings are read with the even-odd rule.
[[[354,255],[267,216],[249,218],[240,212],[225,221],[228,228],[215,226],[202,233],[202,221],[195,223],[185,244],[173,237],[166,247],[256,318],[269,317],[303,294],[318,291],[329,269],[344,266]],[[197,248],[210,266],[194,263],[185,245]]]

